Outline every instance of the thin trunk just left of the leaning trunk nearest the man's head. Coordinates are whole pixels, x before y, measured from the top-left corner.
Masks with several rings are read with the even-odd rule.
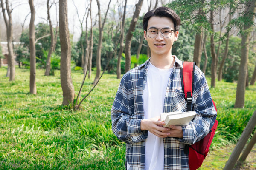
[[[124,50],[124,29],[125,29],[126,4],[127,4],[127,0],[125,0],[124,14],[123,14],[123,17],[122,17],[120,50],[119,50],[119,53],[118,53],[117,65],[116,65],[117,79],[121,79],[121,58],[122,58],[122,52]]]

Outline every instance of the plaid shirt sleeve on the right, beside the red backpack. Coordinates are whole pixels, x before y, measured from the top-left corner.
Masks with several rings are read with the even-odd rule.
[[[217,117],[207,81],[201,71],[199,71],[198,79],[194,85],[192,101],[197,115],[189,125],[182,126],[183,138],[180,139],[180,142],[186,144],[194,144],[203,139],[211,130]]]

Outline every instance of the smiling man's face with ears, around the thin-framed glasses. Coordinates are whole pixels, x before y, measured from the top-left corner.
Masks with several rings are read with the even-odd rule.
[[[153,16],[148,20],[148,29],[159,28],[158,34],[154,38],[148,37],[148,32],[144,31],[144,38],[148,41],[148,46],[151,50],[151,57],[168,57],[172,54],[172,45],[179,37],[179,31],[172,31],[172,35],[169,38],[163,37],[160,29],[170,28],[174,30],[174,23],[172,19],[168,17],[156,17]]]

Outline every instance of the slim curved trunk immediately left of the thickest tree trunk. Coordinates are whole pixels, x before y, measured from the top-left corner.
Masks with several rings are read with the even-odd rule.
[[[50,75],[50,71],[51,71],[51,56],[52,56],[52,52],[54,51],[53,48],[54,48],[54,44],[55,44],[53,27],[52,27],[52,20],[50,18],[49,0],[47,0],[47,16],[48,16],[49,26],[50,26],[51,46],[49,48],[48,55],[47,55],[46,69],[45,69],[45,74],[44,74],[45,76],[49,76]]]

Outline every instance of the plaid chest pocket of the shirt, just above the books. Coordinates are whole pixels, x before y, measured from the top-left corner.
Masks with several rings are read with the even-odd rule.
[[[172,100],[172,111],[186,112],[186,100],[183,91],[176,89]]]

